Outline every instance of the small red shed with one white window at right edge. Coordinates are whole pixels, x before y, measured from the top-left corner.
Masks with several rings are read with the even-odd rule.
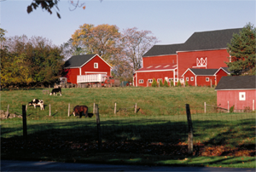
[[[217,106],[234,112],[254,111],[256,100],[256,76],[221,77],[217,87]]]

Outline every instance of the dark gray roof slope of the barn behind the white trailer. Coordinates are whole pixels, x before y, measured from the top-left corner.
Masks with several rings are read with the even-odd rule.
[[[96,54],[83,54],[83,55],[73,55],[71,58],[69,58],[65,64],[65,68],[73,68],[73,67],[81,67],[89,61],[92,57],[94,57]]]

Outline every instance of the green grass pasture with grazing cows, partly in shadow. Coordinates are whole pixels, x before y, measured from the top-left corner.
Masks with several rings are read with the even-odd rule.
[[[205,114],[204,102],[216,105],[214,89],[62,89],[62,94],[43,95],[42,89],[0,92],[0,110],[9,105],[9,112],[21,114],[21,106],[34,98],[43,99],[46,105],[44,111],[28,107],[27,141],[22,140],[20,118],[0,119],[0,158],[256,167],[252,158],[256,154],[255,113],[218,113],[207,107]],[[96,117],[67,117],[69,103],[71,109],[89,106],[92,113],[94,102],[101,118],[101,152],[97,150]],[[113,114],[115,102],[117,114]],[[135,103],[142,111],[134,113]],[[192,113],[194,157],[187,155],[185,104]]]

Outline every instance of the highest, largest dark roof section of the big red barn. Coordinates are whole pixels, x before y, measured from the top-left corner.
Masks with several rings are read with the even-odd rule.
[[[177,51],[225,49],[227,48],[227,43],[230,43],[233,34],[240,31],[241,28],[195,32]]]

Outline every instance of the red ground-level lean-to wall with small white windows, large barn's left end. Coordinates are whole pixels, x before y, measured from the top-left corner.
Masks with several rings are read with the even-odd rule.
[[[162,82],[165,82],[165,77],[173,78],[173,72],[137,72],[137,86],[147,87],[148,79],[153,79],[157,81],[158,78],[162,79]],[[143,83],[139,83],[139,79],[143,79]],[[148,83],[148,86],[151,86],[151,83]]]

